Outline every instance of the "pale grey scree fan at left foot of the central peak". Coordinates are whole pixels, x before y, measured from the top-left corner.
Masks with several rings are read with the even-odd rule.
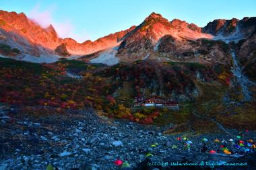
[[[100,53],[97,58],[93,58],[90,60],[92,63],[102,63],[106,65],[117,65],[119,63],[119,58],[115,56],[117,54],[118,47],[110,48],[105,50],[104,52]]]

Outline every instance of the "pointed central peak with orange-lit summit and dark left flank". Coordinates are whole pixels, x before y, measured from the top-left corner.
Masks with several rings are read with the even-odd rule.
[[[177,39],[177,42],[212,38],[208,34],[201,33],[200,28],[195,24],[188,24],[179,19],[168,22],[162,15],[152,13],[123,40],[119,46],[118,56],[123,60],[144,58],[156,50],[154,47],[158,46],[158,40],[166,35]]]

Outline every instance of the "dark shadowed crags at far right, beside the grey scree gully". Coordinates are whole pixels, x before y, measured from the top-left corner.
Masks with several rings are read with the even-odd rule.
[[[256,79],[255,54],[256,54],[256,17],[244,17],[225,20],[216,19],[202,28],[202,32],[212,34],[214,40],[232,42],[232,48],[236,50],[238,65],[241,65],[243,73],[250,79]]]

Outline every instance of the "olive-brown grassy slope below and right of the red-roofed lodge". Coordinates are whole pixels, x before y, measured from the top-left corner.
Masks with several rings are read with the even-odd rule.
[[[226,128],[256,129],[255,99],[236,105],[235,103],[241,101],[241,97],[237,95],[237,89],[199,82],[197,85],[201,89],[201,96],[197,97],[195,103],[185,103],[179,112],[172,111],[164,114],[155,120],[155,124],[165,125],[171,122],[178,125],[174,130],[167,130],[167,133],[220,131],[214,122],[208,119],[195,118],[193,116],[193,112],[195,112],[202,117],[213,118]],[[231,101],[235,102],[234,104],[225,105],[223,103],[222,97],[227,94]]]

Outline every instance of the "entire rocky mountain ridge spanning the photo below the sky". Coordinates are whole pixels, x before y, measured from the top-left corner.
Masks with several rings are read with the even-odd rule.
[[[248,59],[247,54],[253,56],[255,50],[248,46],[249,42],[255,42],[255,23],[255,17],[216,19],[199,28],[179,19],[169,22],[153,12],[139,26],[94,42],[77,43],[71,38],[59,38],[52,25],[42,28],[24,13],[0,11],[0,43],[20,50],[16,58],[21,60],[44,56],[38,62],[55,62],[63,56],[73,56],[71,58],[106,65],[148,59],[232,65],[230,46],[226,44],[243,39],[237,47],[238,56],[244,58],[245,65],[251,65],[253,59]],[[11,54],[13,57],[15,53]]]

